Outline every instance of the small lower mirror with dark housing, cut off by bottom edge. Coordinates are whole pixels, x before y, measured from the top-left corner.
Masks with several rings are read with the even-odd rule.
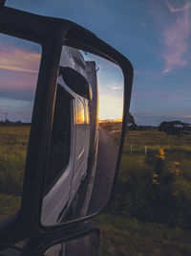
[[[0,241],[0,256],[96,256],[98,251],[98,233],[91,231],[78,235],[71,240],[63,240],[66,233],[60,234],[60,238],[47,242],[27,239],[17,244],[7,244]],[[55,240],[55,238],[54,238]],[[59,242],[57,242],[59,241]]]

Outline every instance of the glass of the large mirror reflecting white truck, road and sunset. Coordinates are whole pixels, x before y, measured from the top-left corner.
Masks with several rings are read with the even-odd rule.
[[[53,129],[42,203],[43,225],[96,214],[110,198],[121,132],[123,75],[90,53],[63,46],[60,66],[88,82],[92,100],[57,80]],[[78,84],[80,86],[80,83]]]

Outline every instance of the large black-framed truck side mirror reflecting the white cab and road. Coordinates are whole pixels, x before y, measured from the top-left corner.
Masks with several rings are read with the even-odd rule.
[[[42,46],[41,58],[33,52],[29,58],[39,61],[39,69],[34,60],[32,66],[26,61],[24,66],[15,67],[15,62],[4,58],[9,62],[6,66],[10,64],[15,72],[35,75],[31,81],[36,84],[28,147],[24,132],[19,131],[18,141],[26,150],[22,175],[15,179],[23,180],[18,195],[21,205],[14,207],[13,198],[15,215],[11,212],[10,219],[5,215],[5,221],[0,222],[0,240],[13,244],[50,234],[62,229],[63,224],[84,221],[106,206],[122,153],[133,67],[117,50],[73,22],[11,8],[3,8],[2,13],[2,34],[30,42],[31,52],[32,43]],[[28,59],[20,51],[18,63],[22,62],[21,54]],[[17,94],[12,93],[12,87],[6,92],[15,100],[21,101],[31,90],[34,92],[24,78],[25,82],[17,84]],[[12,113],[15,111],[13,107]],[[24,111],[26,105],[19,114]],[[6,108],[3,113],[11,116]],[[20,115],[12,114],[12,119],[17,121]],[[9,139],[7,135],[3,139]],[[12,140],[11,149],[15,144],[17,140]],[[5,157],[4,164],[8,166],[11,161]],[[14,167],[19,169],[17,162],[12,163]]]

